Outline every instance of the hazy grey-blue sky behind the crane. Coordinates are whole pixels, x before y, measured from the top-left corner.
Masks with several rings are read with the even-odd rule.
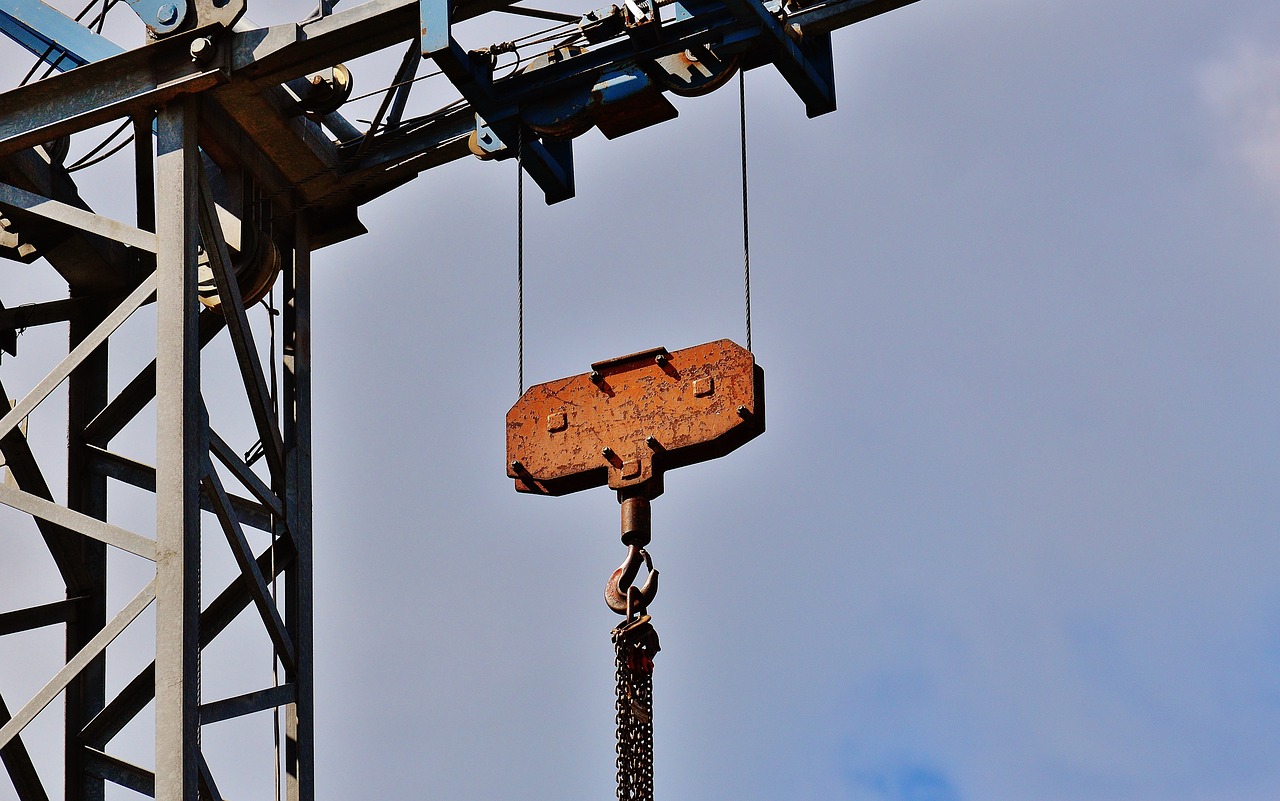
[[[768,430],[653,504],[655,797],[1275,798],[1280,6],[920,0],[833,46],[832,114],[746,75]],[[526,384],[744,342],[736,91],[673,100],[526,184]],[[362,219],[314,270],[317,797],[611,797],[617,503],[506,479],[513,165]],[[227,649],[206,700],[270,681]],[[205,732],[228,797],[268,797],[256,718]]]

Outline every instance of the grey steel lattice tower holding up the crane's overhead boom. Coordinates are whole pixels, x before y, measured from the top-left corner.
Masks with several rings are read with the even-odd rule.
[[[159,132],[154,157],[150,136],[142,137],[138,148],[137,184],[145,191],[137,224],[0,183],[0,211],[114,243],[137,267],[132,282],[119,279],[132,283],[124,292],[118,282],[105,290],[73,284],[69,299],[6,310],[8,319],[0,320],[0,325],[69,324],[65,358],[0,416],[0,453],[13,476],[12,482],[0,484],[0,503],[31,516],[33,532],[44,537],[65,589],[61,600],[0,614],[0,636],[55,624],[67,628],[64,667],[23,704],[0,699],[0,761],[22,801],[49,798],[51,778],[36,770],[23,731],[58,696],[65,699],[63,781],[69,800],[102,798],[108,782],[166,801],[220,800],[219,766],[200,750],[201,727],[275,708],[285,713],[288,797],[314,797],[308,220],[301,214],[287,225],[266,225],[283,255],[283,348],[269,356],[283,375],[283,389],[274,398],[244,298],[232,279],[224,215],[205,174],[198,119],[209,102],[179,92],[154,116],[136,101],[109,106],[118,115],[137,115],[140,129]],[[29,152],[18,151],[10,159]],[[152,197],[161,202],[151,206]],[[216,283],[216,311],[202,311],[197,301],[197,244],[207,253]],[[109,392],[110,342],[129,329],[140,308],[152,303],[156,358],[119,392]],[[219,337],[223,329],[227,337]],[[137,334],[136,325],[132,331]],[[210,420],[201,385],[206,347],[232,352],[244,389],[248,430],[260,438],[265,471],[251,467],[215,430],[237,421]],[[69,388],[68,493],[67,502],[59,503],[50,467],[59,459],[36,453],[22,422],[52,403],[51,395],[63,385]],[[0,397],[10,397],[8,390],[0,384]],[[143,413],[152,400],[154,418]],[[154,434],[147,435],[148,429]],[[151,458],[111,449],[122,432],[136,449],[138,435],[131,431],[155,443]],[[116,484],[154,493],[154,534],[108,514],[108,498],[116,494],[110,488]],[[202,511],[214,513],[216,528],[202,526]],[[265,548],[250,541],[247,528],[266,531]],[[227,540],[237,572],[211,601],[206,596],[202,603],[201,583],[218,589],[209,575],[201,575],[201,540],[211,531]],[[133,599],[122,609],[108,607],[110,549],[155,564],[154,578],[131,587]],[[276,581],[282,582],[279,594],[273,589]],[[154,662],[123,687],[109,687],[105,660],[111,644],[136,627],[152,604]],[[202,649],[248,609],[261,622],[283,681],[236,697],[201,697]],[[155,764],[134,765],[113,755],[113,738],[152,702]]]

